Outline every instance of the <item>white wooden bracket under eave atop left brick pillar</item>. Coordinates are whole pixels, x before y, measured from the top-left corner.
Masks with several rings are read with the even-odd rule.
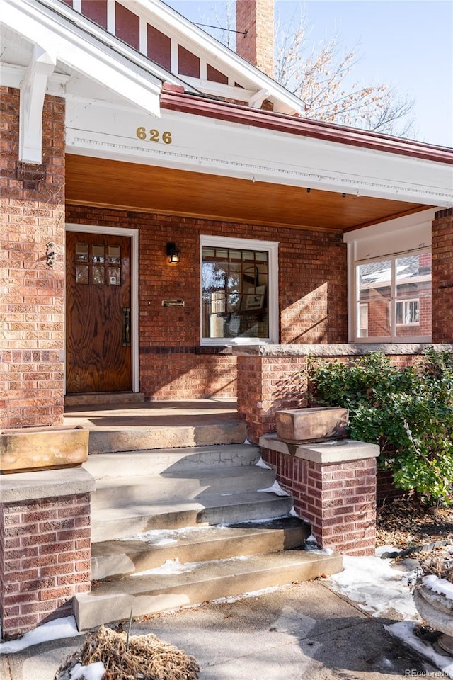
[[[21,84],[19,160],[23,163],[42,162],[42,108],[47,79],[56,65],[54,57],[40,45],[35,45]]]

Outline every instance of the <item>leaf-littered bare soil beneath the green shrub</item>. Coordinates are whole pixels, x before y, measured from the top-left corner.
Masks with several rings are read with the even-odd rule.
[[[376,545],[405,549],[437,540],[453,541],[453,504],[436,509],[401,499],[378,509]]]

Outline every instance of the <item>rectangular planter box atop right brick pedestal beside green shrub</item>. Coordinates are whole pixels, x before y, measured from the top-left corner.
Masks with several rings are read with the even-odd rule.
[[[288,443],[341,439],[346,436],[348,409],[316,407],[277,411],[277,436]]]

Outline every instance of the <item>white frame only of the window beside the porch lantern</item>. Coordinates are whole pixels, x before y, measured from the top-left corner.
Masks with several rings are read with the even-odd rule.
[[[278,343],[279,315],[278,315],[278,242],[260,241],[258,239],[235,239],[221,236],[200,235],[200,344],[202,346],[237,346],[265,343]],[[202,280],[201,262],[202,247],[240,248],[243,250],[264,250],[268,252],[268,317],[269,338],[203,338],[202,337]]]

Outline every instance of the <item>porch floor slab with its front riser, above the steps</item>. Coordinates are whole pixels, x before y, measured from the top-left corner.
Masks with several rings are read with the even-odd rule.
[[[236,399],[67,406],[64,425],[90,431],[90,453],[242,443]]]

